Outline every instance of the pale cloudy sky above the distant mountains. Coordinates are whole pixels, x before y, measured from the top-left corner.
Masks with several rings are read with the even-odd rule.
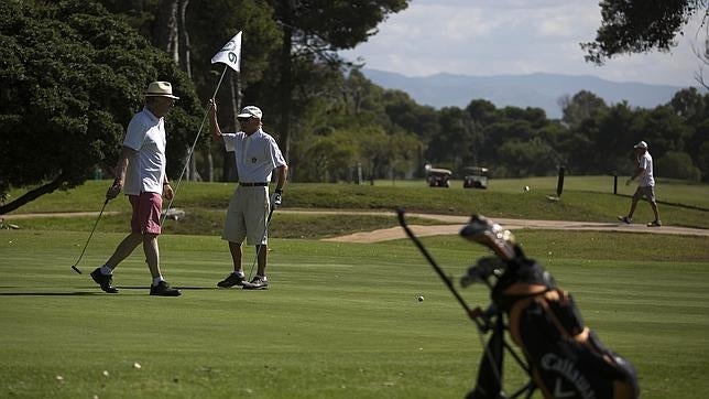
[[[669,53],[621,55],[603,66],[583,60],[601,22],[598,0],[412,0],[379,32],[340,55],[366,68],[406,76],[437,73],[593,75],[613,82],[699,86],[706,26],[697,17]],[[709,80],[709,67],[705,67]]]

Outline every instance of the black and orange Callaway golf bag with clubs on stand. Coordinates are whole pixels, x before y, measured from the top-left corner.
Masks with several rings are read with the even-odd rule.
[[[581,319],[572,296],[559,289],[539,263],[527,258],[514,236],[481,216],[473,216],[460,235],[490,248],[460,279],[462,287],[484,283],[491,290],[487,310],[470,310],[408,229],[400,223],[434,269],[463,305],[481,334],[491,332],[478,368],[471,399],[508,398],[503,391],[503,358],[510,354],[530,380],[510,397],[532,397],[538,388],[545,398],[637,398],[640,388],[633,366],[603,346]],[[522,356],[509,344],[506,335]]]

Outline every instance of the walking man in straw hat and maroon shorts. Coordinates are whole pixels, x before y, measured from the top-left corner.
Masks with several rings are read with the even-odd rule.
[[[128,125],[123,150],[116,165],[116,180],[106,192],[112,199],[123,190],[133,208],[131,233],[118,245],[106,263],[91,272],[91,278],[101,290],[118,293],[112,285],[113,270],[133,250],[143,245],[145,261],[153,277],[151,295],[179,296],[163,279],[160,271],[160,250],[157,236],[161,233],[160,215],[163,196],[171,199],[174,195],[165,175],[165,121],[164,117],[179,99],[173,95],[168,82],[153,82],[145,90],[145,106],[135,114]]]

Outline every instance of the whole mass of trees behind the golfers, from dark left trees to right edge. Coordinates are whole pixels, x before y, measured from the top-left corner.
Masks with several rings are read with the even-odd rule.
[[[610,1],[609,3],[613,3]],[[709,98],[685,89],[654,109],[607,105],[581,91],[538,108],[471,99],[434,109],[383,89],[342,60],[408,0],[59,0],[0,3],[0,214],[110,173],[146,84],[171,80],[182,99],[167,118],[168,174],[231,181],[222,148],[201,134],[186,155],[222,72],[210,58],[243,31],[241,72],[218,93],[219,118],[254,104],[296,182],[423,174],[427,162],[494,176],[628,173],[650,142],[659,175],[707,181]],[[685,12],[685,11],[683,11]],[[597,48],[598,50],[598,48]],[[610,56],[611,52],[607,52]],[[204,132],[203,132],[204,133]],[[4,203],[11,187],[30,187]]]

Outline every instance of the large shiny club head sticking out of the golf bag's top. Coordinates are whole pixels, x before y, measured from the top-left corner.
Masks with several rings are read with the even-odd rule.
[[[512,260],[516,256],[514,235],[482,215],[472,215],[460,236],[490,248],[502,260]]]

